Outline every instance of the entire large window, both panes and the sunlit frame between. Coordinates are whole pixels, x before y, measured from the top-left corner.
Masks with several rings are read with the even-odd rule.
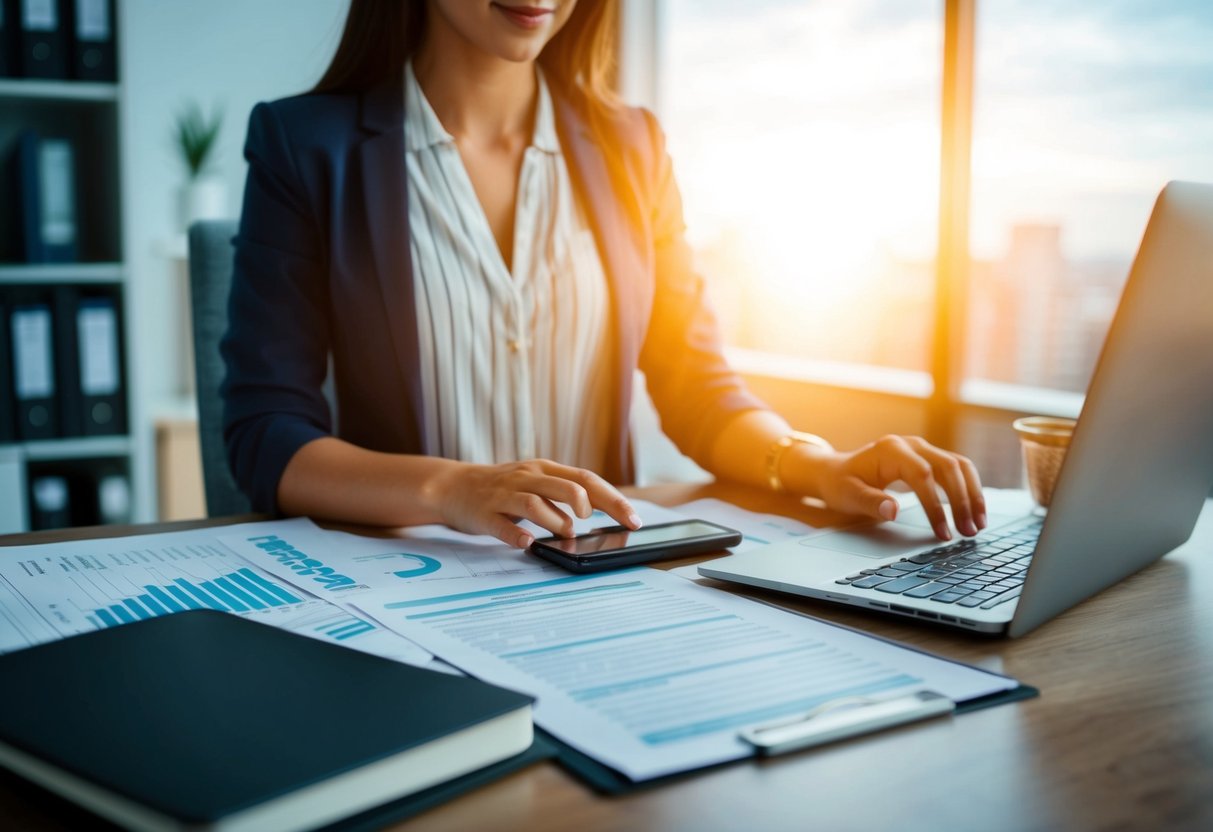
[[[728,342],[847,363],[804,378],[835,392],[934,388],[927,438],[1016,484],[1009,420],[1077,414],[1155,196],[1213,181],[1213,4],[659,7],[657,106]],[[936,273],[945,188],[968,210]],[[936,332],[939,312],[955,320]],[[899,377],[927,393],[888,372],[870,387],[855,363],[917,370]]]

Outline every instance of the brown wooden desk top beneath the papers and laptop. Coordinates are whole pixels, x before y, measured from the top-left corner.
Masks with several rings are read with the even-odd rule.
[[[667,505],[714,496],[814,525],[832,520],[790,498],[722,485],[633,494]],[[80,536],[41,532],[0,545]],[[599,797],[542,763],[393,828],[1213,828],[1211,549],[1213,511],[1206,511],[1188,545],[1019,640],[754,591],[750,594],[1007,673],[1040,688],[1041,696],[748,760],[621,798]],[[0,817],[6,826],[35,830],[80,822],[64,804],[8,775],[0,777]]]

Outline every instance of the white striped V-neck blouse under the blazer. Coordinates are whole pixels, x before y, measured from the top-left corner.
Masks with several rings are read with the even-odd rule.
[[[609,295],[539,75],[507,267],[463,167],[405,67],[409,230],[426,454],[547,457],[602,471],[610,431]]]

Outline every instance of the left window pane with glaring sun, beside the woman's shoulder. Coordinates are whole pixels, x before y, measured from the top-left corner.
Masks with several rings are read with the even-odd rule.
[[[928,365],[935,1],[668,0],[659,95],[731,346]]]

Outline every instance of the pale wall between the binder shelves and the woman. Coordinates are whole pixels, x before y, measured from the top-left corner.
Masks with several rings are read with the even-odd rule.
[[[302,92],[332,56],[348,0],[119,0],[124,247],[129,279],[139,519],[154,515],[152,421],[189,392],[184,266],[169,256],[184,167],[171,141],[190,99],[220,104],[216,173],[235,217],[244,190],[249,112]],[[178,406],[181,406],[178,404]]]

